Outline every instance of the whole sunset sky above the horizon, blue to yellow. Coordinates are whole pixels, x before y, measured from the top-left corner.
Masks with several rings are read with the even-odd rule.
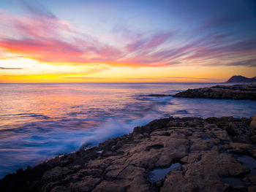
[[[254,0],[1,0],[0,82],[256,76]]]

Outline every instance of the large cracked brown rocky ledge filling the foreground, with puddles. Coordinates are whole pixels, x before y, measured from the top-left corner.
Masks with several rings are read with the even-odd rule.
[[[251,122],[252,121],[252,122]],[[256,191],[256,117],[165,118],[18,169],[1,191]]]

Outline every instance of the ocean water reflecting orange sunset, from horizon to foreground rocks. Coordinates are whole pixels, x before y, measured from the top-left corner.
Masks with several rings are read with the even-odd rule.
[[[0,177],[80,147],[98,145],[156,118],[256,114],[256,101],[181,99],[214,83],[0,84]]]

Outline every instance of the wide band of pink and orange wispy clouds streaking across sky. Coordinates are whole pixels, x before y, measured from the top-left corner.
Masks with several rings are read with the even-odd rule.
[[[233,34],[212,30],[225,23],[246,20],[249,17],[246,14],[241,18],[237,14],[211,18],[208,25],[205,23],[197,28],[193,36],[177,31],[153,31],[140,35],[116,26],[113,32],[120,33],[121,28],[125,41],[110,45],[99,41],[93,34],[77,31],[75,26],[59,19],[42,4],[19,2],[29,13],[28,17],[0,10],[0,27],[4,28],[0,35],[0,49],[5,53],[52,64],[256,66],[255,37],[236,39]],[[206,28],[211,28],[211,31]],[[115,35],[110,34],[113,38]]]

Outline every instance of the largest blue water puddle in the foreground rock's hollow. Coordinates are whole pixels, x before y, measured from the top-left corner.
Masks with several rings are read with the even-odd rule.
[[[165,176],[173,169],[179,169],[181,167],[181,164],[171,164],[166,169],[154,169],[152,172],[149,173],[149,180],[151,183],[157,182],[159,180],[162,180],[165,178]]]

